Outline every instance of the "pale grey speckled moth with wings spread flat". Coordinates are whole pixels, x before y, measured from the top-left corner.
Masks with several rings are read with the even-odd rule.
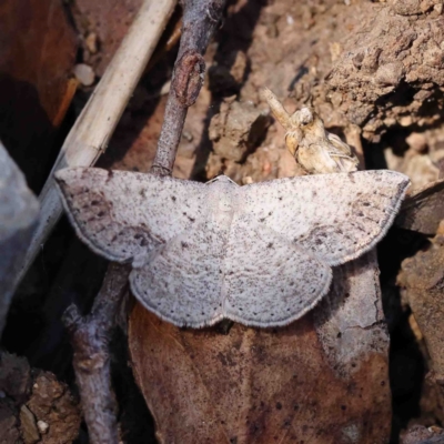
[[[301,317],[327,293],[332,266],[384,236],[408,185],[387,170],[244,186],[95,168],[56,179],[80,239],[132,264],[132,293],[148,310],[192,327]]]

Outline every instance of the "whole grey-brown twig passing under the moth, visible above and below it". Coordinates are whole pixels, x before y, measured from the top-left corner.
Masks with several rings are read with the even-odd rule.
[[[154,174],[171,174],[186,110],[194,103],[203,82],[205,64],[202,54],[222,17],[224,3],[225,0],[188,0],[184,3],[181,44],[152,168]],[[93,444],[118,443],[108,345],[127,289],[128,271],[122,270],[122,265],[110,265],[91,315],[80,316],[74,305],[64,315],[72,336],[75,377]]]

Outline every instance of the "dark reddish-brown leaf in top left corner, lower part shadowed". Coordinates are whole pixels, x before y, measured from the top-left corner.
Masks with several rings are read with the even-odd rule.
[[[0,29],[0,139],[36,189],[75,92],[77,39],[58,0],[3,1]]]

